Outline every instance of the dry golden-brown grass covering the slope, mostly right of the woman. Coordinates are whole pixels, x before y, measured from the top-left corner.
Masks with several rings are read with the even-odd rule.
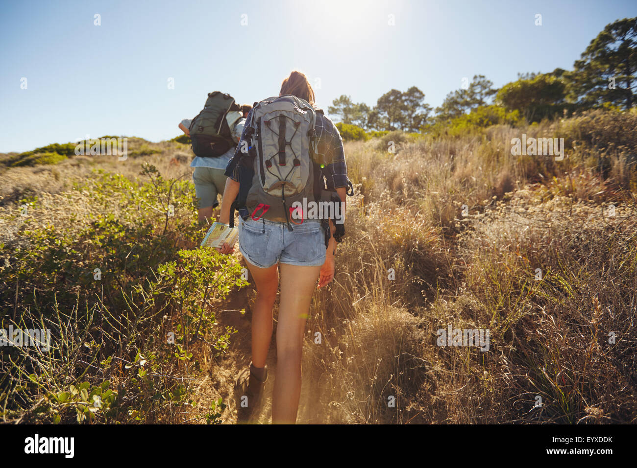
[[[396,153],[377,139],[347,143],[357,196],[348,199],[334,281],[311,306],[298,421],[635,422],[635,118],[597,111],[405,139]],[[510,141],[522,133],[565,138],[566,159],[513,157]],[[47,211],[40,222],[71,223],[56,208],[64,197],[89,211],[92,204],[90,194],[68,195],[64,183],[92,164],[127,176],[143,161],[168,176],[188,171],[183,145],[148,147],[162,152],[1,174],[3,239],[15,235],[6,222],[16,209],[11,190],[39,194]],[[252,299],[240,292],[228,309],[249,309]],[[233,376],[249,361],[248,318],[220,316],[239,330],[224,357],[194,351],[205,369],[196,377],[202,402],[231,399]],[[489,351],[438,346],[436,330],[448,324],[489,329]],[[269,408],[268,399],[260,422]],[[233,408],[222,417],[232,422]]]

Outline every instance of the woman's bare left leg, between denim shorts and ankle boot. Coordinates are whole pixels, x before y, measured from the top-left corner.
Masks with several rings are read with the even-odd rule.
[[[272,308],[278,289],[277,265],[259,268],[248,262],[248,269],[257,286],[257,299],[252,309],[252,365],[264,367],[272,341]]]

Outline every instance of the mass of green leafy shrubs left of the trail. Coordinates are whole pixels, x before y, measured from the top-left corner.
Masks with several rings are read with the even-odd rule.
[[[193,352],[227,349],[236,330],[218,325],[216,304],[246,284],[241,266],[198,248],[190,181],[150,165],[142,174],[150,181],[97,171],[76,185],[92,200],[84,229],[31,228],[27,218],[11,245],[0,243],[0,309],[17,304],[0,328],[55,337],[50,350],[0,353],[6,422],[181,421],[196,405],[190,376],[205,369]],[[218,423],[224,408],[217,400],[201,418]]]

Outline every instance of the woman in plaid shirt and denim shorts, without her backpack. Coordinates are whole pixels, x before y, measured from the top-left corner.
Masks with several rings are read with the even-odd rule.
[[[292,95],[304,99],[313,108],[314,91],[303,73],[292,71],[283,80],[279,96]],[[250,123],[250,111],[247,124]],[[278,124],[277,124],[278,125]],[[348,187],[347,166],[343,153],[343,140],[329,118],[316,113],[314,126],[316,146],[329,162],[321,169],[327,180],[327,189],[338,193],[345,207]],[[234,153],[225,171],[228,179],[221,202],[219,222],[228,224],[231,204],[239,192],[238,159],[241,145]],[[291,213],[291,211],[290,211]],[[254,214],[253,214],[254,216]],[[294,230],[287,223],[269,220],[254,221],[250,217],[240,220],[239,248],[245,258],[257,288],[252,309],[252,362],[240,372],[236,381],[236,394],[247,395],[248,408],[238,404],[238,422],[250,420],[262,399],[262,389],[268,379],[266,357],[273,330],[273,306],[280,280],[280,302],[276,327],[276,374],[272,396],[272,422],[296,423],[301,395],[301,354],[306,317],[310,309],[314,288],[324,287],[334,278],[334,223],[329,222],[332,235],[325,243],[324,228],[320,223],[295,223]],[[269,232],[268,232],[269,231]],[[260,234],[268,232],[268,242],[263,246]],[[224,243],[220,253],[231,253],[234,247]]]

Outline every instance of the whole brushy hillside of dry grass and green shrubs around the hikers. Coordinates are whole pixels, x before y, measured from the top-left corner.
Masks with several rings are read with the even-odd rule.
[[[635,422],[635,118],[346,143],[357,195],[313,298],[297,421]],[[566,158],[513,156],[522,134],[564,138]],[[3,353],[6,421],[234,422],[254,290],[238,253],[196,250],[189,148],[129,148],[0,174],[3,327],[59,337]]]

